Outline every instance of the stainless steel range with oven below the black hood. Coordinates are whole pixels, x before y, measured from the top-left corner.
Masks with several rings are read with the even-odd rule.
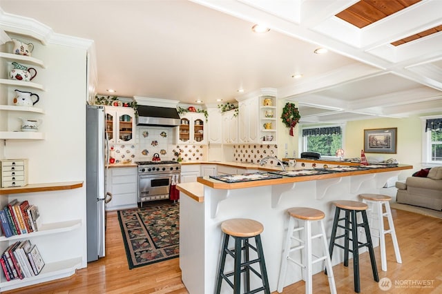
[[[177,161],[136,161],[138,165],[138,202],[169,199],[172,178],[181,175]]]

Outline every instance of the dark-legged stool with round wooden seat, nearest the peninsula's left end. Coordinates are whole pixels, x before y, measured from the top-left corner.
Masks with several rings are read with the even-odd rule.
[[[264,252],[262,251],[260,233],[264,231],[264,226],[260,222],[253,219],[229,219],[222,222],[221,230],[224,233],[222,241],[222,253],[220,256],[220,264],[218,267],[218,275],[216,277],[216,292],[220,293],[222,280],[226,280],[233,288],[233,293],[239,294],[241,291],[241,273],[244,273],[244,293],[257,293],[264,291],[270,294],[269,280],[267,278],[267,270],[265,267]],[[235,248],[229,249],[229,237],[235,239]],[[255,238],[256,247],[249,243],[249,238]],[[249,250],[253,249],[258,254],[258,258],[250,260]],[[244,260],[241,260],[241,253],[244,252]],[[224,264],[227,254],[234,259],[233,271],[224,273]],[[251,265],[258,263],[260,273]],[[250,291],[250,272],[257,275],[262,281],[262,286]],[[233,283],[229,277],[233,275]]]

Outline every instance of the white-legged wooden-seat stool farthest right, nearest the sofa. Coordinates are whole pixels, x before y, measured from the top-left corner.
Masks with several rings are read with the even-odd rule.
[[[392,210],[390,209],[390,200],[392,197],[381,194],[361,194],[359,197],[362,198],[362,202],[366,204],[372,204],[372,208],[368,209],[367,217],[369,218],[370,226],[372,225],[372,220],[378,221],[378,235],[374,237],[379,237],[379,244],[381,246],[381,268],[383,271],[387,271],[387,253],[385,250],[385,234],[390,234],[392,236],[394,254],[396,255],[396,262],[398,264],[402,263],[401,253],[399,252],[398,239],[396,238],[396,231],[394,230]],[[385,206],[385,213],[383,212],[383,206]],[[388,230],[384,227],[384,217],[388,220]]]

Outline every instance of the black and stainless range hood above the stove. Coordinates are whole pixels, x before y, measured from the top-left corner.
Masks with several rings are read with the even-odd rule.
[[[176,108],[139,105],[137,126],[179,126]]]

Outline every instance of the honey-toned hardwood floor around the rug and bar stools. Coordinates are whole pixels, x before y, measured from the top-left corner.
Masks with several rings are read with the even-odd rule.
[[[392,209],[392,213],[403,263],[396,264],[390,236],[386,239],[387,272],[381,271],[379,247],[375,248],[379,277],[388,277],[393,284],[389,291],[382,291],[372,279],[368,253],[360,255],[361,293],[442,293],[442,219],[404,210]],[[73,277],[3,293],[188,293],[177,258],[129,271],[117,214],[107,216],[106,257],[89,263]],[[338,293],[354,293],[352,262],[348,268],[338,264],[333,270]],[[314,293],[329,293],[323,273],[314,275],[313,282]],[[427,288],[410,285],[422,282]],[[284,293],[304,292],[302,281],[284,288]]]

